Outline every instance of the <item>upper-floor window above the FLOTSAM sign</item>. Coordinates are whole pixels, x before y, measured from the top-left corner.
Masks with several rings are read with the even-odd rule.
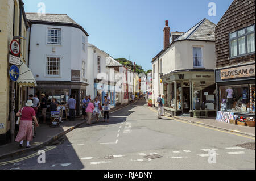
[[[244,56],[255,52],[255,24],[229,35],[230,57]]]

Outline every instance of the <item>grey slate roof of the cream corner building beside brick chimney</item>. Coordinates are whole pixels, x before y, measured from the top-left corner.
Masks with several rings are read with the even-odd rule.
[[[215,33],[214,33],[215,27],[216,27],[216,24],[204,18],[195,26],[190,28],[187,32],[183,33],[183,35],[178,37],[175,41],[179,41],[179,40],[215,41]]]

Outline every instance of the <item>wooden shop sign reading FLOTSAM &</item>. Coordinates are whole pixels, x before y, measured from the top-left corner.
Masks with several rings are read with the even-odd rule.
[[[237,68],[221,70],[221,79],[253,76],[255,76],[255,65],[240,66]]]

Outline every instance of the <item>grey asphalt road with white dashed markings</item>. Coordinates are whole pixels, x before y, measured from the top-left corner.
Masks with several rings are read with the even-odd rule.
[[[249,142],[255,143],[255,137],[171,117],[157,119],[156,112],[140,100],[110,114],[110,123],[82,125],[57,145],[44,148],[46,163],[38,163],[35,151],[1,160],[0,169],[255,170],[255,150],[235,146]],[[144,158],[155,154],[162,157]]]

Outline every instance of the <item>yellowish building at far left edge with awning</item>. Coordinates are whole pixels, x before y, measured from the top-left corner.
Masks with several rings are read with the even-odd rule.
[[[15,113],[27,101],[27,86],[36,86],[30,69],[27,68],[27,28],[28,23],[21,0],[0,1],[0,145],[14,141]],[[10,43],[16,40],[19,44],[19,54],[11,53]],[[11,81],[9,69],[14,63],[11,56],[16,58],[15,65],[19,68],[19,79]]]

